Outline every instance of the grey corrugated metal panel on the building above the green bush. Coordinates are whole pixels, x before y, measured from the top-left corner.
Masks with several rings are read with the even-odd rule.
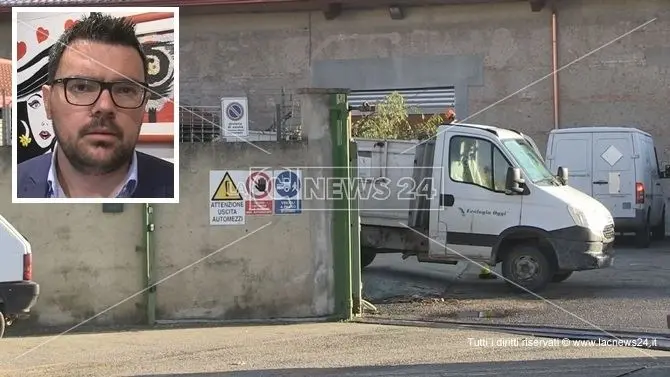
[[[392,92],[398,92],[405,97],[405,102],[408,106],[417,107],[421,110],[444,110],[448,107],[454,107],[456,102],[456,90],[454,87],[365,91],[352,90],[351,93],[349,93],[349,106],[360,106],[364,102],[374,105]]]

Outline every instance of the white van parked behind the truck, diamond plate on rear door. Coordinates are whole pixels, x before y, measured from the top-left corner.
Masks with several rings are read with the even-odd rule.
[[[633,232],[640,247],[665,237],[665,200],[654,141],[632,127],[576,127],[551,131],[550,170],[568,168],[569,185],[603,203],[617,233]]]

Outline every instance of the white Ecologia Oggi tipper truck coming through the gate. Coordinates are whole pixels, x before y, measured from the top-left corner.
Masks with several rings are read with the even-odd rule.
[[[608,209],[570,187],[566,168],[552,174],[520,132],[448,124],[424,142],[355,141],[363,267],[377,253],[502,263],[512,288],[537,292],[613,263]]]

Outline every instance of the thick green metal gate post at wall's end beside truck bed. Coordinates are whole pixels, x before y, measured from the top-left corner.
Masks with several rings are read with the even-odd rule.
[[[349,320],[353,302],[351,289],[351,201],[349,141],[351,139],[347,94],[330,94],[330,132],[333,146],[333,181],[340,187],[331,187],[333,196],[333,264],[335,278],[335,316]]]

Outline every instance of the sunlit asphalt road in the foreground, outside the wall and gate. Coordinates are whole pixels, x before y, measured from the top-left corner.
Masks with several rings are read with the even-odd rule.
[[[670,353],[564,344],[490,331],[358,323],[175,328],[0,340],[3,377],[614,377],[625,373],[666,377],[670,375]]]

